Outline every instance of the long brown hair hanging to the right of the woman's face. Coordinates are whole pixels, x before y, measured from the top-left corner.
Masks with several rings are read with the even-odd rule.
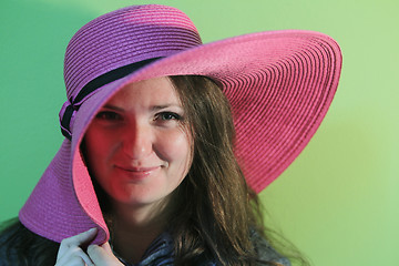
[[[249,231],[263,232],[262,215],[234,155],[228,100],[205,76],[171,80],[194,140],[191,170],[174,195],[181,203],[173,224],[176,265],[190,265],[200,254],[221,265],[252,265],[256,254]]]

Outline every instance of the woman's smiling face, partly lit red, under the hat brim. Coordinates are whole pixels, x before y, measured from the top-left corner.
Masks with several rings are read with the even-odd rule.
[[[132,83],[99,111],[85,134],[94,178],[115,203],[163,202],[192,161],[185,113],[168,78]]]

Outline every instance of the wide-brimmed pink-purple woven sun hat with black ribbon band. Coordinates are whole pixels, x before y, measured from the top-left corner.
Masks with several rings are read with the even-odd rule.
[[[65,53],[66,136],[19,214],[30,231],[61,242],[104,223],[79,151],[98,110],[127,83],[164,75],[206,75],[229,100],[236,155],[260,192],[298,156],[324,119],[338,85],[341,54],[328,35],[269,31],[202,44],[180,10],[127,7],[83,25]]]

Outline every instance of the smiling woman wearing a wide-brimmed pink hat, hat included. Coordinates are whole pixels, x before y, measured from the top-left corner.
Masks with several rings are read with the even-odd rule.
[[[65,140],[3,231],[2,264],[289,265],[256,193],[317,130],[340,63],[308,31],[202,44],[165,6],[89,22],[65,53]]]

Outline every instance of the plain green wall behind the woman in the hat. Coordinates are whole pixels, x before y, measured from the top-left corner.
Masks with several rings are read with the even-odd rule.
[[[341,81],[310,144],[262,194],[268,223],[319,266],[399,265],[399,2],[2,0],[0,221],[18,214],[62,136],[63,53],[85,22],[134,3],[185,11],[203,41],[306,29],[340,43]]]

